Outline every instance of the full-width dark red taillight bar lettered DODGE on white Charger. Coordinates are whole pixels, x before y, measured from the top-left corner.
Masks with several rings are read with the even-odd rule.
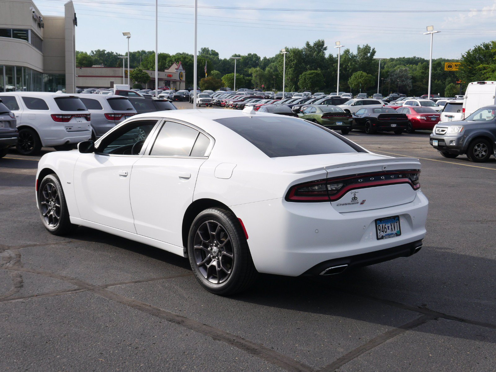
[[[368,173],[363,175],[328,178],[292,186],[287,201],[319,202],[336,201],[351,189],[394,184],[409,184],[414,190],[420,188],[420,170]]]

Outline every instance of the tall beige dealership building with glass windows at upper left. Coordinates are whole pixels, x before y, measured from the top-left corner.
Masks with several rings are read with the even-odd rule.
[[[31,0],[0,0],[0,91],[73,93],[76,25],[72,1],[44,16]]]

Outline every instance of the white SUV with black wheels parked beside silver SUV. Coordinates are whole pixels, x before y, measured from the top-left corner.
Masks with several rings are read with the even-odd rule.
[[[36,155],[42,147],[68,150],[91,138],[90,113],[74,95],[3,92],[0,99],[17,119],[16,148],[22,155]]]

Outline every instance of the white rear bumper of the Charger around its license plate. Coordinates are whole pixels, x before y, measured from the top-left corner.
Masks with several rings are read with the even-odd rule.
[[[292,203],[284,199],[231,208],[246,227],[256,269],[299,276],[337,259],[346,258],[358,265],[364,260],[350,257],[362,254],[372,253],[366,264],[380,257],[409,255],[426,235],[428,206],[426,196],[419,191],[410,203],[347,213],[338,213],[325,202]],[[401,236],[377,240],[375,219],[396,215],[400,218]],[[403,247],[398,248],[400,255],[392,254],[390,258],[380,252],[397,247]]]

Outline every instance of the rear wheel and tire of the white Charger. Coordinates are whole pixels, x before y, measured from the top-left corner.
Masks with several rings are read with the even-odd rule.
[[[225,209],[208,208],[196,216],[189,229],[187,251],[196,280],[211,293],[228,296],[242,292],[256,279],[245,233],[238,219]]]

